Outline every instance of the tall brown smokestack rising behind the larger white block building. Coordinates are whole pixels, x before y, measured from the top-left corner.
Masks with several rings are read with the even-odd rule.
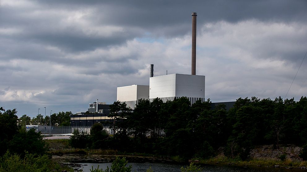
[[[192,75],[196,75],[196,13],[192,13]]]

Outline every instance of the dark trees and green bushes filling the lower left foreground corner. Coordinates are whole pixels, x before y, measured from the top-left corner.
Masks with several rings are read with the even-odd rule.
[[[19,124],[16,109],[0,107],[0,171],[62,171],[51,160],[49,148],[41,133],[35,129],[26,130]],[[73,170],[72,170],[73,171]]]

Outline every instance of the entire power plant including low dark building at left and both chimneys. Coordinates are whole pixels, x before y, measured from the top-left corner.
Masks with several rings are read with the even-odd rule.
[[[163,102],[172,101],[180,97],[187,97],[191,104],[197,100],[205,101],[205,76],[196,75],[196,13],[192,13],[192,58],[191,75],[167,74],[154,76],[154,64],[150,64],[149,85],[129,85],[117,87],[116,100],[126,103],[127,107],[135,109],[138,100],[153,101],[160,98]],[[225,104],[226,109],[233,107],[235,102],[212,103],[212,108],[219,104]],[[109,104],[93,102],[89,104],[88,113],[79,112],[71,115],[71,125],[91,126],[97,122],[111,122]]]

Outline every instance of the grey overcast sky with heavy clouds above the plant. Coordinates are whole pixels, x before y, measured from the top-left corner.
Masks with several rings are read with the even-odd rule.
[[[285,98],[307,51],[305,0],[0,0],[0,107],[20,117],[112,104],[116,88],[196,74],[206,99]],[[307,58],[287,98],[307,92]],[[304,83],[305,82],[305,83]]]

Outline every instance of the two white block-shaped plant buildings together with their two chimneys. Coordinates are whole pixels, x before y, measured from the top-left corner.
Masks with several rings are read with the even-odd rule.
[[[154,76],[154,64],[150,65],[149,85],[117,87],[117,100],[134,109],[138,100],[155,98],[163,102],[187,97],[191,104],[205,101],[205,76],[196,75],[196,13],[192,13],[192,58],[191,75],[169,74]]]

